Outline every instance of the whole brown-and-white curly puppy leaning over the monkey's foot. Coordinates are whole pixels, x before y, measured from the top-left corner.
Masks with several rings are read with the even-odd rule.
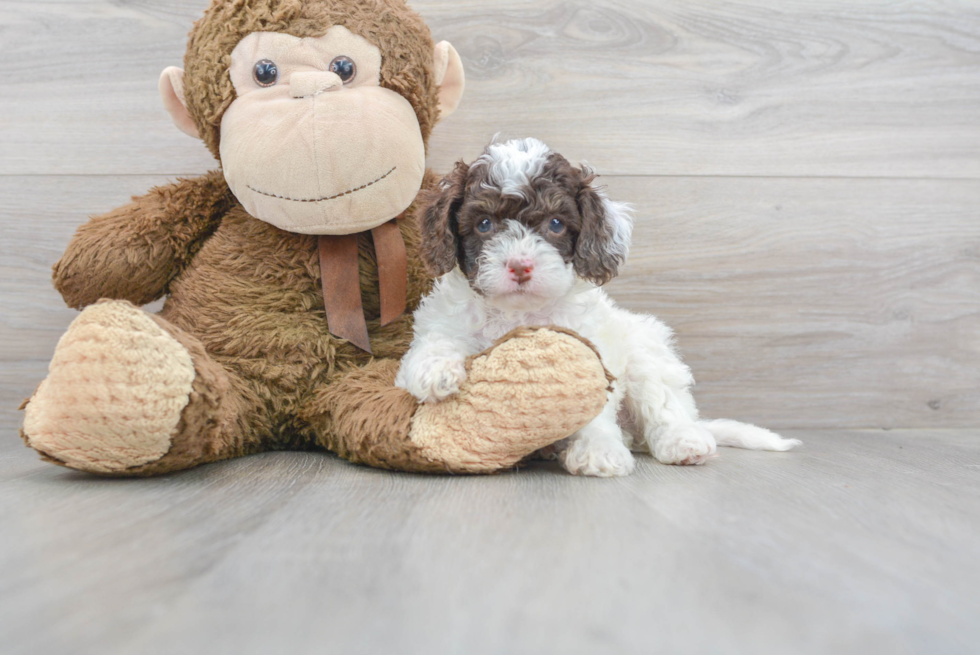
[[[631,446],[665,464],[702,464],[718,444],[799,444],[698,419],[694,379],[670,328],[617,307],[600,288],[626,260],[633,218],[594,179],[535,139],[496,143],[472,165],[456,165],[423,200],[422,257],[441,277],[415,312],[395,384],[438,402],[459,390],[468,356],[517,327],[556,325],[591,341],[616,378],[603,412],[556,449],[570,473],[628,475]]]

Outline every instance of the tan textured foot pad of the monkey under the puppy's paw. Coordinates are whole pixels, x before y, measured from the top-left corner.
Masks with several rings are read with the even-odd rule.
[[[451,470],[489,472],[571,435],[599,415],[611,378],[591,344],[520,328],[473,357],[459,394],[421,405],[412,441]]]

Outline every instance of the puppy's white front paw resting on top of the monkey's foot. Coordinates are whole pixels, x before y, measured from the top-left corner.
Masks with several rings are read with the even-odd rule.
[[[459,391],[466,381],[466,351],[449,337],[427,335],[416,339],[395,377],[395,386],[420,402],[434,403]]]

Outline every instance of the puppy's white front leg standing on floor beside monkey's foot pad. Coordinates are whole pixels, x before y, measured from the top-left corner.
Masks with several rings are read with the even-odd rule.
[[[616,422],[616,405],[609,403],[591,423],[568,438],[558,458],[572,475],[611,478],[629,475],[636,466]]]

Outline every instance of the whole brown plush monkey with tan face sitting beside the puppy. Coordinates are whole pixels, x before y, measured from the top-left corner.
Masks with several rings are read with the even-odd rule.
[[[399,310],[431,282],[411,207],[436,179],[426,143],[463,89],[455,50],[402,0],[214,0],[185,67],[164,71],[164,103],[222,170],[78,229],[54,282],[85,309],[25,404],[29,446],[106,475],[311,446],[490,472],[599,413],[605,370],[558,330],[506,338],[438,405],[392,386],[412,336]]]

